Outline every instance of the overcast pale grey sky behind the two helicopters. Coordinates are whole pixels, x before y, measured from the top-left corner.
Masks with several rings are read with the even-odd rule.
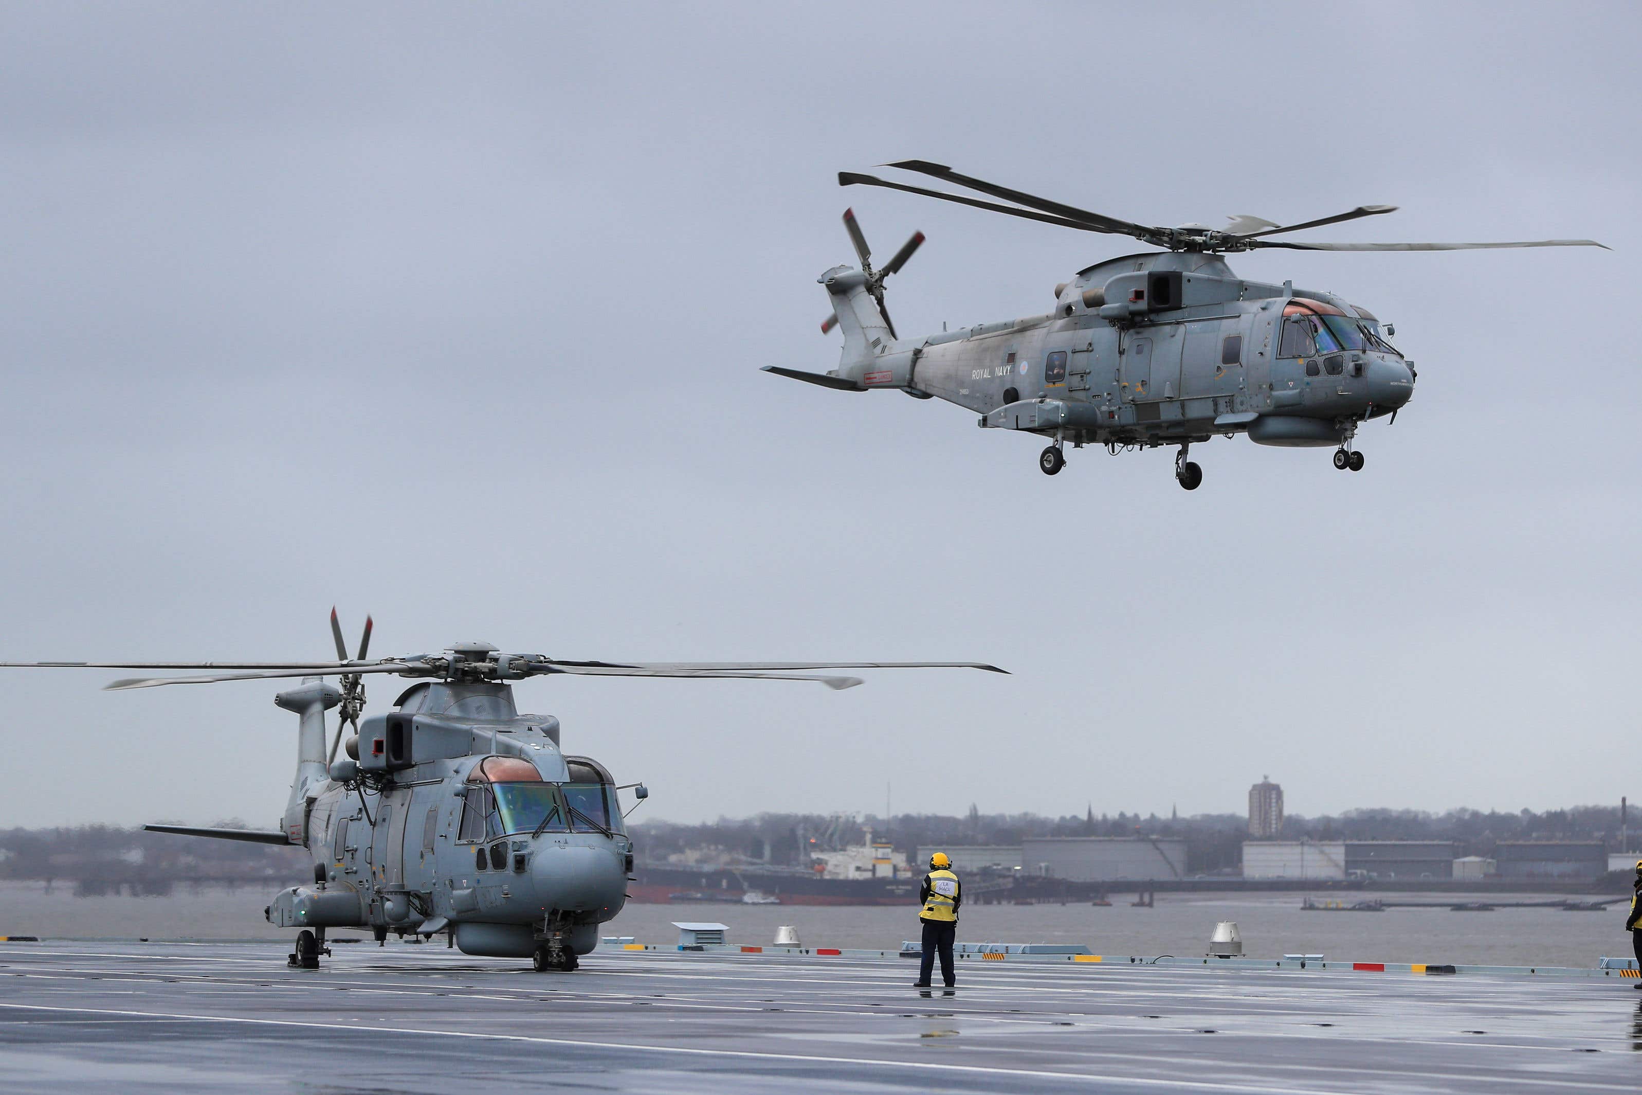
[[[0,7],[0,658],[980,658],[864,688],[555,680],[658,818],[1617,801],[1637,778],[1639,8]],[[885,190],[926,158],[1148,223],[1589,248],[1233,256],[1419,364],[1396,425],[1074,453],[824,371],[1140,246]],[[7,673],[0,824],[273,824],[276,688]],[[397,681],[369,686],[383,711]],[[67,760],[66,760],[67,758]]]

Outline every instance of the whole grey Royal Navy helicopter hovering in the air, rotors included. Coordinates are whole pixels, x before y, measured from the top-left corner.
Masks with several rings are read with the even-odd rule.
[[[901,338],[883,304],[883,282],[924,241],[915,233],[880,269],[855,220],[844,228],[860,268],[834,266],[818,279],[832,302],[821,323],[844,335],[839,366],[806,373],[764,366],[837,391],[901,391],[944,399],[980,414],[982,428],[1049,438],[1038,458],[1044,474],[1066,466],[1064,447],[1105,445],[1108,451],[1177,445],[1174,474],[1187,491],[1204,479],[1189,458],[1194,442],[1246,433],[1259,445],[1333,447],[1333,465],[1361,471],[1358,427],[1396,422],[1414,396],[1415,369],[1392,346],[1396,328],[1373,312],[1292,281],[1263,284],[1232,273],[1227,253],[1259,248],[1292,251],[1465,251],[1491,248],[1604,246],[1594,240],[1514,243],[1292,243],[1276,235],[1378,217],[1394,205],[1358,205],[1333,217],[1277,225],[1232,217],[1225,228],[1163,228],[1089,212],[959,174],[944,164],[905,159],[888,164],[931,176],[1008,205],[931,190],[875,176],[839,172],[839,186],[874,186],[957,202],[1041,223],[1126,235],[1163,248],[1125,254],[1080,269],[1054,287],[1043,315],[977,323],[938,335]]]

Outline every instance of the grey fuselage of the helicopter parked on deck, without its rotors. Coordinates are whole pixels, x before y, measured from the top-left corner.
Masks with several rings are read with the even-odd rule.
[[[632,841],[609,773],[560,752],[555,717],[519,714],[502,683],[419,683],[394,712],[361,722],[348,749],[360,775],[338,783],[325,775],[322,745],[323,709],[337,698],[310,681],[277,701],[304,717],[284,832],[317,870],[314,885],[269,905],[269,923],[379,936],[450,929],[465,952],[498,957],[530,955],[547,939],[576,954],[598,944],[598,924],[626,901]],[[479,775],[488,757],[527,762],[550,785],[534,795],[560,804],[580,795],[589,818],[565,809],[540,834],[509,824]]]

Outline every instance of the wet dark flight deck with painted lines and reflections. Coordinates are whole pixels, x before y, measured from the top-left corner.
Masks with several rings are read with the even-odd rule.
[[[1635,1092],[1635,980],[0,944],[0,1090]]]

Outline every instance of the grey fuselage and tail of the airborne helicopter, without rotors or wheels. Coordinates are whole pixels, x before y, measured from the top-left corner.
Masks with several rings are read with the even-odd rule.
[[[1217,254],[1130,254],[1084,269],[1056,307],[1000,323],[892,340],[860,271],[821,276],[844,332],[839,368],[979,412],[982,427],[1072,443],[1167,445],[1246,432],[1266,445],[1338,445],[1414,392],[1412,363],[1378,322],[1327,292],[1236,277]],[[1286,310],[1320,302],[1374,332],[1284,348]],[[1287,355],[1287,356],[1286,356]]]

